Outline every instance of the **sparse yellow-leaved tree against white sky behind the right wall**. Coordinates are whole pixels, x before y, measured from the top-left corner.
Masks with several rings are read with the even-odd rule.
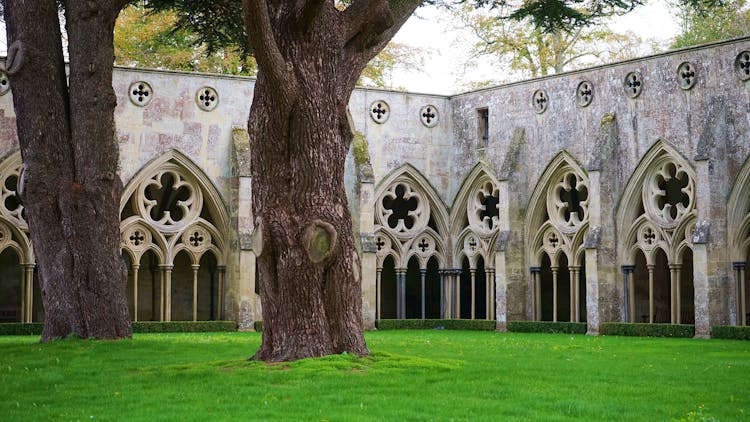
[[[528,18],[501,19],[495,11],[477,9],[471,4],[452,12],[475,37],[464,66],[489,60],[516,78],[546,76],[634,58],[641,53],[642,41],[636,34],[614,33],[603,24],[545,32],[535,28]]]

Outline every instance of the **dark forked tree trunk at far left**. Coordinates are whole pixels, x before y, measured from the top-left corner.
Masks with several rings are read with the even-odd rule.
[[[70,88],[53,0],[6,0],[21,198],[45,311],[42,340],[131,335],[120,256],[112,33],[123,1],[67,1]]]

